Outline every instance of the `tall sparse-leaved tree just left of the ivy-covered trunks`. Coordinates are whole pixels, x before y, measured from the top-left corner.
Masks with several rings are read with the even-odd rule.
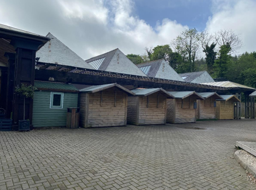
[[[183,57],[187,63],[188,72],[196,71],[195,60],[200,47],[200,34],[193,28],[181,33],[171,42],[171,46]]]

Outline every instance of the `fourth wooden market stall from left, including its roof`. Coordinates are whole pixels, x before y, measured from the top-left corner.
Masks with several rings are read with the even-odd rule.
[[[216,99],[223,99],[216,92],[198,93],[204,100],[197,100],[196,119],[216,119]]]

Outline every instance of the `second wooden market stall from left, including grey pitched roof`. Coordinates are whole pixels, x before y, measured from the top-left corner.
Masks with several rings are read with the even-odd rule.
[[[162,88],[131,90],[128,97],[127,123],[133,125],[159,125],[166,123],[166,98],[173,98]]]

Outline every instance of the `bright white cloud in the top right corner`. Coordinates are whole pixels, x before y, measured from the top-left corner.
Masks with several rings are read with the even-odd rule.
[[[206,24],[206,30],[215,33],[221,29],[232,29],[243,41],[240,53],[256,50],[256,1],[255,0],[213,0],[213,16]]]

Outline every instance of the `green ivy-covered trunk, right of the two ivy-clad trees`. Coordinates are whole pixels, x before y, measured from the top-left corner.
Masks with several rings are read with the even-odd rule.
[[[228,66],[231,60],[231,56],[229,55],[230,50],[231,47],[229,46],[229,43],[220,47],[218,59],[216,59],[214,64],[214,77],[227,78]]]

